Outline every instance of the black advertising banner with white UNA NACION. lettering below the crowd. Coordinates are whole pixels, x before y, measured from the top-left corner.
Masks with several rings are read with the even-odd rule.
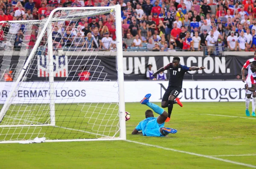
[[[20,64],[20,56],[12,56],[8,62],[10,68],[14,71]],[[143,80],[146,79],[147,65],[151,64],[152,69],[157,69],[172,62],[174,56],[124,56],[123,67],[125,80]],[[44,70],[47,62],[44,56],[37,56],[31,62],[30,68],[32,73],[28,73],[28,81],[47,80],[47,69]],[[46,57],[45,57],[46,58]],[[204,66],[206,69],[198,71],[189,71],[185,74],[184,79],[206,80],[206,79],[236,79],[237,74],[241,74],[241,68],[247,59],[253,56],[223,56],[223,57],[203,57],[203,56],[180,56],[180,64],[190,66]],[[96,77],[103,79],[116,79],[116,57],[113,56],[54,56],[55,80],[73,79],[76,73],[83,65],[87,65],[93,73],[98,74]],[[3,56],[0,56],[0,69],[3,67]],[[20,66],[20,65],[19,65]],[[46,72],[44,72],[46,71]],[[167,72],[165,72],[167,73]],[[68,80],[67,79],[67,80]],[[92,79],[96,80],[96,79]]]

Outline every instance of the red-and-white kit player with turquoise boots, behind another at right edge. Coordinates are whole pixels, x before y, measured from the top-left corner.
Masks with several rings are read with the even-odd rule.
[[[248,59],[242,70],[242,81],[246,82],[246,84],[248,85],[248,87],[252,87],[252,81],[251,81],[251,75],[253,74],[252,70],[250,69],[250,63],[256,60],[256,51],[254,52],[254,58],[252,59]],[[245,77],[244,76],[244,70],[248,69],[248,75]],[[255,117],[255,107],[256,107],[256,92],[255,90],[252,92],[250,90],[246,90],[246,98],[245,98],[245,114],[247,116],[250,116],[250,111],[249,111],[249,104],[250,104],[250,98],[251,95],[253,94],[253,100],[252,100],[252,108],[253,108],[253,112],[252,112],[252,116]]]

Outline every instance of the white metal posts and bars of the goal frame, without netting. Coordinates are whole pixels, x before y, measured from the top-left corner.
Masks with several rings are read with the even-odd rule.
[[[93,11],[93,10],[105,10],[109,9],[109,11]],[[8,94],[8,97],[3,104],[3,107],[0,111],[0,123],[3,121],[3,118],[6,115],[7,110],[9,109],[10,105],[12,104],[12,98],[15,97],[17,94],[17,90],[19,89],[20,82],[23,82],[25,79],[29,62],[32,60],[32,58],[35,56],[38,47],[41,43],[41,39],[43,38],[45,32],[47,32],[47,48],[48,48],[48,56],[49,56],[49,114],[50,114],[50,126],[55,126],[55,85],[54,85],[54,64],[53,64],[53,47],[52,47],[52,22],[57,21],[66,21],[70,20],[72,21],[73,17],[72,15],[68,15],[66,18],[54,18],[53,15],[56,14],[57,11],[75,11],[75,10],[92,10],[92,12],[87,12],[86,17],[91,17],[99,14],[105,14],[115,11],[115,19],[116,19],[116,47],[117,47],[117,76],[118,76],[118,94],[119,94],[119,138],[118,140],[125,140],[126,139],[126,129],[125,129],[125,99],[124,99],[124,73],[123,73],[123,56],[122,56],[122,23],[121,23],[121,6],[110,6],[110,7],[72,7],[72,8],[56,8],[54,9],[51,14],[49,15],[47,20],[44,20],[44,27],[42,27],[41,33],[38,35],[37,40],[35,42],[34,47],[32,48],[32,51],[30,52],[28,58],[26,59],[26,62],[20,71],[18,77],[15,77],[17,80],[15,82],[12,82],[12,88]],[[55,16],[56,17],[56,16]],[[84,16],[78,16],[78,18],[82,18]],[[40,22],[38,20],[30,20],[30,21],[10,21],[12,23],[29,23],[29,22]],[[4,23],[4,22],[0,22]],[[12,125],[7,125],[8,127],[11,127]],[[29,126],[29,125],[23,125],[23,126]],[[40,126],[40,124],[32,125],[32,126]],[[58,127],[58,126],[57,126]],[[96,135],[99,135],[96,133]],[[68,140],[68,139],[67,139]],[[87,140],[94,140],[94,139],[83,139],[85,141]],[[101,139],[104,140],[104,139]],[[109,139],[107,139],[109,140]],[[56,141],[56,140],[52,140]],[[73,140],[71,140],[73,141]],[[80,139],[81,141],[81,139]]]

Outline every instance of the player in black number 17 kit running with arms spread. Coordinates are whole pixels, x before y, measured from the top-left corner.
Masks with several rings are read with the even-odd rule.
[[[172,63],[169,63],[163,68],[160,68],[159,70],[157,70],[156,73],[153,74],[153,76],[157,76],[158,73],[163,72],[164,70],[169,70],[169,85],[168,85],[168,88],[166,89],[166,92],[163,95],[163,99],[161,103],[161,106],[163,108],[168,107],[168,118],[166,119],[166,122],[170,121],[173,104],[178,103],[179,105],[182,105],[181,103],[179,103],[180,101],[177,98],[177,96],[181,92],[184,74],[187,71],[202,70],[202,69],[205,69],[205,68],[204,67],[199,68],[195,66],[187,67],[184,65],[180,65],[180,58],[174,57],[172,60]]]

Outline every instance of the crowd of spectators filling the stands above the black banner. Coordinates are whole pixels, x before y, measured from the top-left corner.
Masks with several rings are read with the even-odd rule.
[[[0,0],[0,21],[42,20],[57,7],[116,4],[122,8],[124,50],[256,50],[256,1],[253,0]],[[114,16],[109,14],[55,25],[54,46],[114,50],[114,21]],[[37,32],[36,28],[32,29],[30,46],[35,44]],[[4,34],[0,36],[3,40]],[[22,42],[20,29],[15,46]]]

